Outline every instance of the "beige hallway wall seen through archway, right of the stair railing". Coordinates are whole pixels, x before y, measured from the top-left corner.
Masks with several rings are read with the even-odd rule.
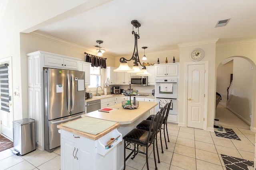
[[[251,124],[250,113],[252,111],[252,64],[246,59],[234,57],[233,72],[233,95],[228,103],[238,117],[242,118],[248,125]]]

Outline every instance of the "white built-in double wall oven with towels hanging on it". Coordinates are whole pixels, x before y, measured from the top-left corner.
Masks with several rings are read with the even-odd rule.
[[[177,78],[157,78],[155,84],[155,97],[158,106],[156,112],[160,111],[162,107],[170,100],[172,106],[170,107],[168,119],[169,121],[177,121],[177,98],[178,98],[178,79]],[[173,115],[173,116],[172,116]]]

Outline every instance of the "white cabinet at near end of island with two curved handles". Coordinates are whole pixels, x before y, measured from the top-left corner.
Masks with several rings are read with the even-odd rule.
[[[117,129],[97,140],[62,129],[59,132],[62,170],[116,170],[116,145],[122,141],[122,134]],[[110,149],[106,149],[105,145],[112,137],[118,139]]]

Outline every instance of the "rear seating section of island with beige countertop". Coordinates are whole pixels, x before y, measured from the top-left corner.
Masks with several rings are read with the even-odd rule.
[[[157,102],[139,102],[139,107],[137,109],[124,109],[122,104],[117,104],[111,106],[112,108],[118,108],[114,111],[102,112],[102,111],[92,111],[85,114],[85,116],[94,117],[98,119],[104,119],[108,121],[115,121],[120,124],[117,128],[122,136],[126,135],[132,129],[142,121],[145,120],[150,115],[150,110],[157,106]],[[124,141],[118,143],[117,145],[117,170],[122,170],[124,168]]]

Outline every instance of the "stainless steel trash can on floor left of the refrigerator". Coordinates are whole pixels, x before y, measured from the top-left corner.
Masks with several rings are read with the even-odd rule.
[[[35,120],[21,119],[13,124],[13,148],[17,155],[28,154],[36,150],[36,127]]]

